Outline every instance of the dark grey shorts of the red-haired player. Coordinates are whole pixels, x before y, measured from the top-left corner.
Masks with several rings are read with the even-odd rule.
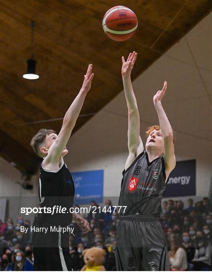
[[[158,218],[121,216],[117,226],[117,270],[169,271],[167,243]]]

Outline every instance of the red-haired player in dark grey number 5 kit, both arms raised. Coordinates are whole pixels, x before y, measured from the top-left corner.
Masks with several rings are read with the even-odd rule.
[[[146,131],[145,151],[140,138],[140,117],[131,82],[137,57],[122,57],[122,79],[128,107],[129,156],[123,171],[117,226],[116,262],[118,270],[170,270],[167,244],[159,222],[161,200],[170,172],[176,165],[173,131],[162,106],[167,82],[153,97],[160,126]]]

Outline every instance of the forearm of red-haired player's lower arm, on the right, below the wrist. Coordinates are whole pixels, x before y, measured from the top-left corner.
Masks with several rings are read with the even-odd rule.
[[[166,115],[166,112],[162,106],[161,101],[156,102],[154,104],[154,107],[157,112],[163,138],[173,137],[172,126],[169,122],[169,119]]]

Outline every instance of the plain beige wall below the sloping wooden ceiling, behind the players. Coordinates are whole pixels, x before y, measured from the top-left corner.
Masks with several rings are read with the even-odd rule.
[[[176,158],[196,159],[197,196],[208,195],[211,177],[210,22],[211,15],[133,82],[145,142],[146,127],[158,123],[152,97],[168,81],[163,105],[176,131]],[[68,149],[66,161],[71,171],[103,169],[104,196],[119,195],[128,155],[123,91],[73,135]]]

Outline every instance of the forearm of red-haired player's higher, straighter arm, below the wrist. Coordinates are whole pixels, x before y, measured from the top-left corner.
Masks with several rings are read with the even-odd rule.
[[[138,111],[137,101],[133,92],[132,82],[130,77],[122,77],[124,85],[124,93],[127,101],[128,110]]]

